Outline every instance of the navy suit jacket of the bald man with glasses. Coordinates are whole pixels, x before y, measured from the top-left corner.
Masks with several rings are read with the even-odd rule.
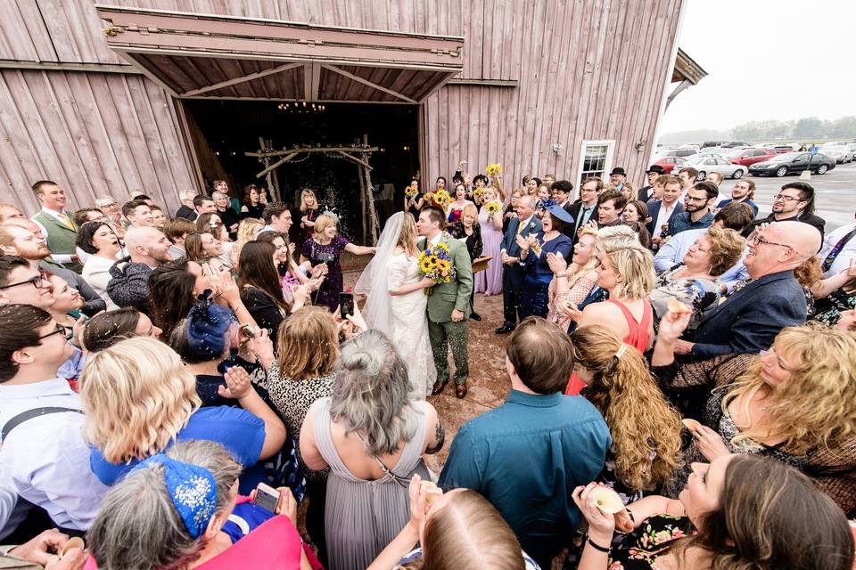
[[[770,348],[785,327],[805,322],[805,293],[793,271],[750,281],[714,308],[692,335],[695,360]]]

